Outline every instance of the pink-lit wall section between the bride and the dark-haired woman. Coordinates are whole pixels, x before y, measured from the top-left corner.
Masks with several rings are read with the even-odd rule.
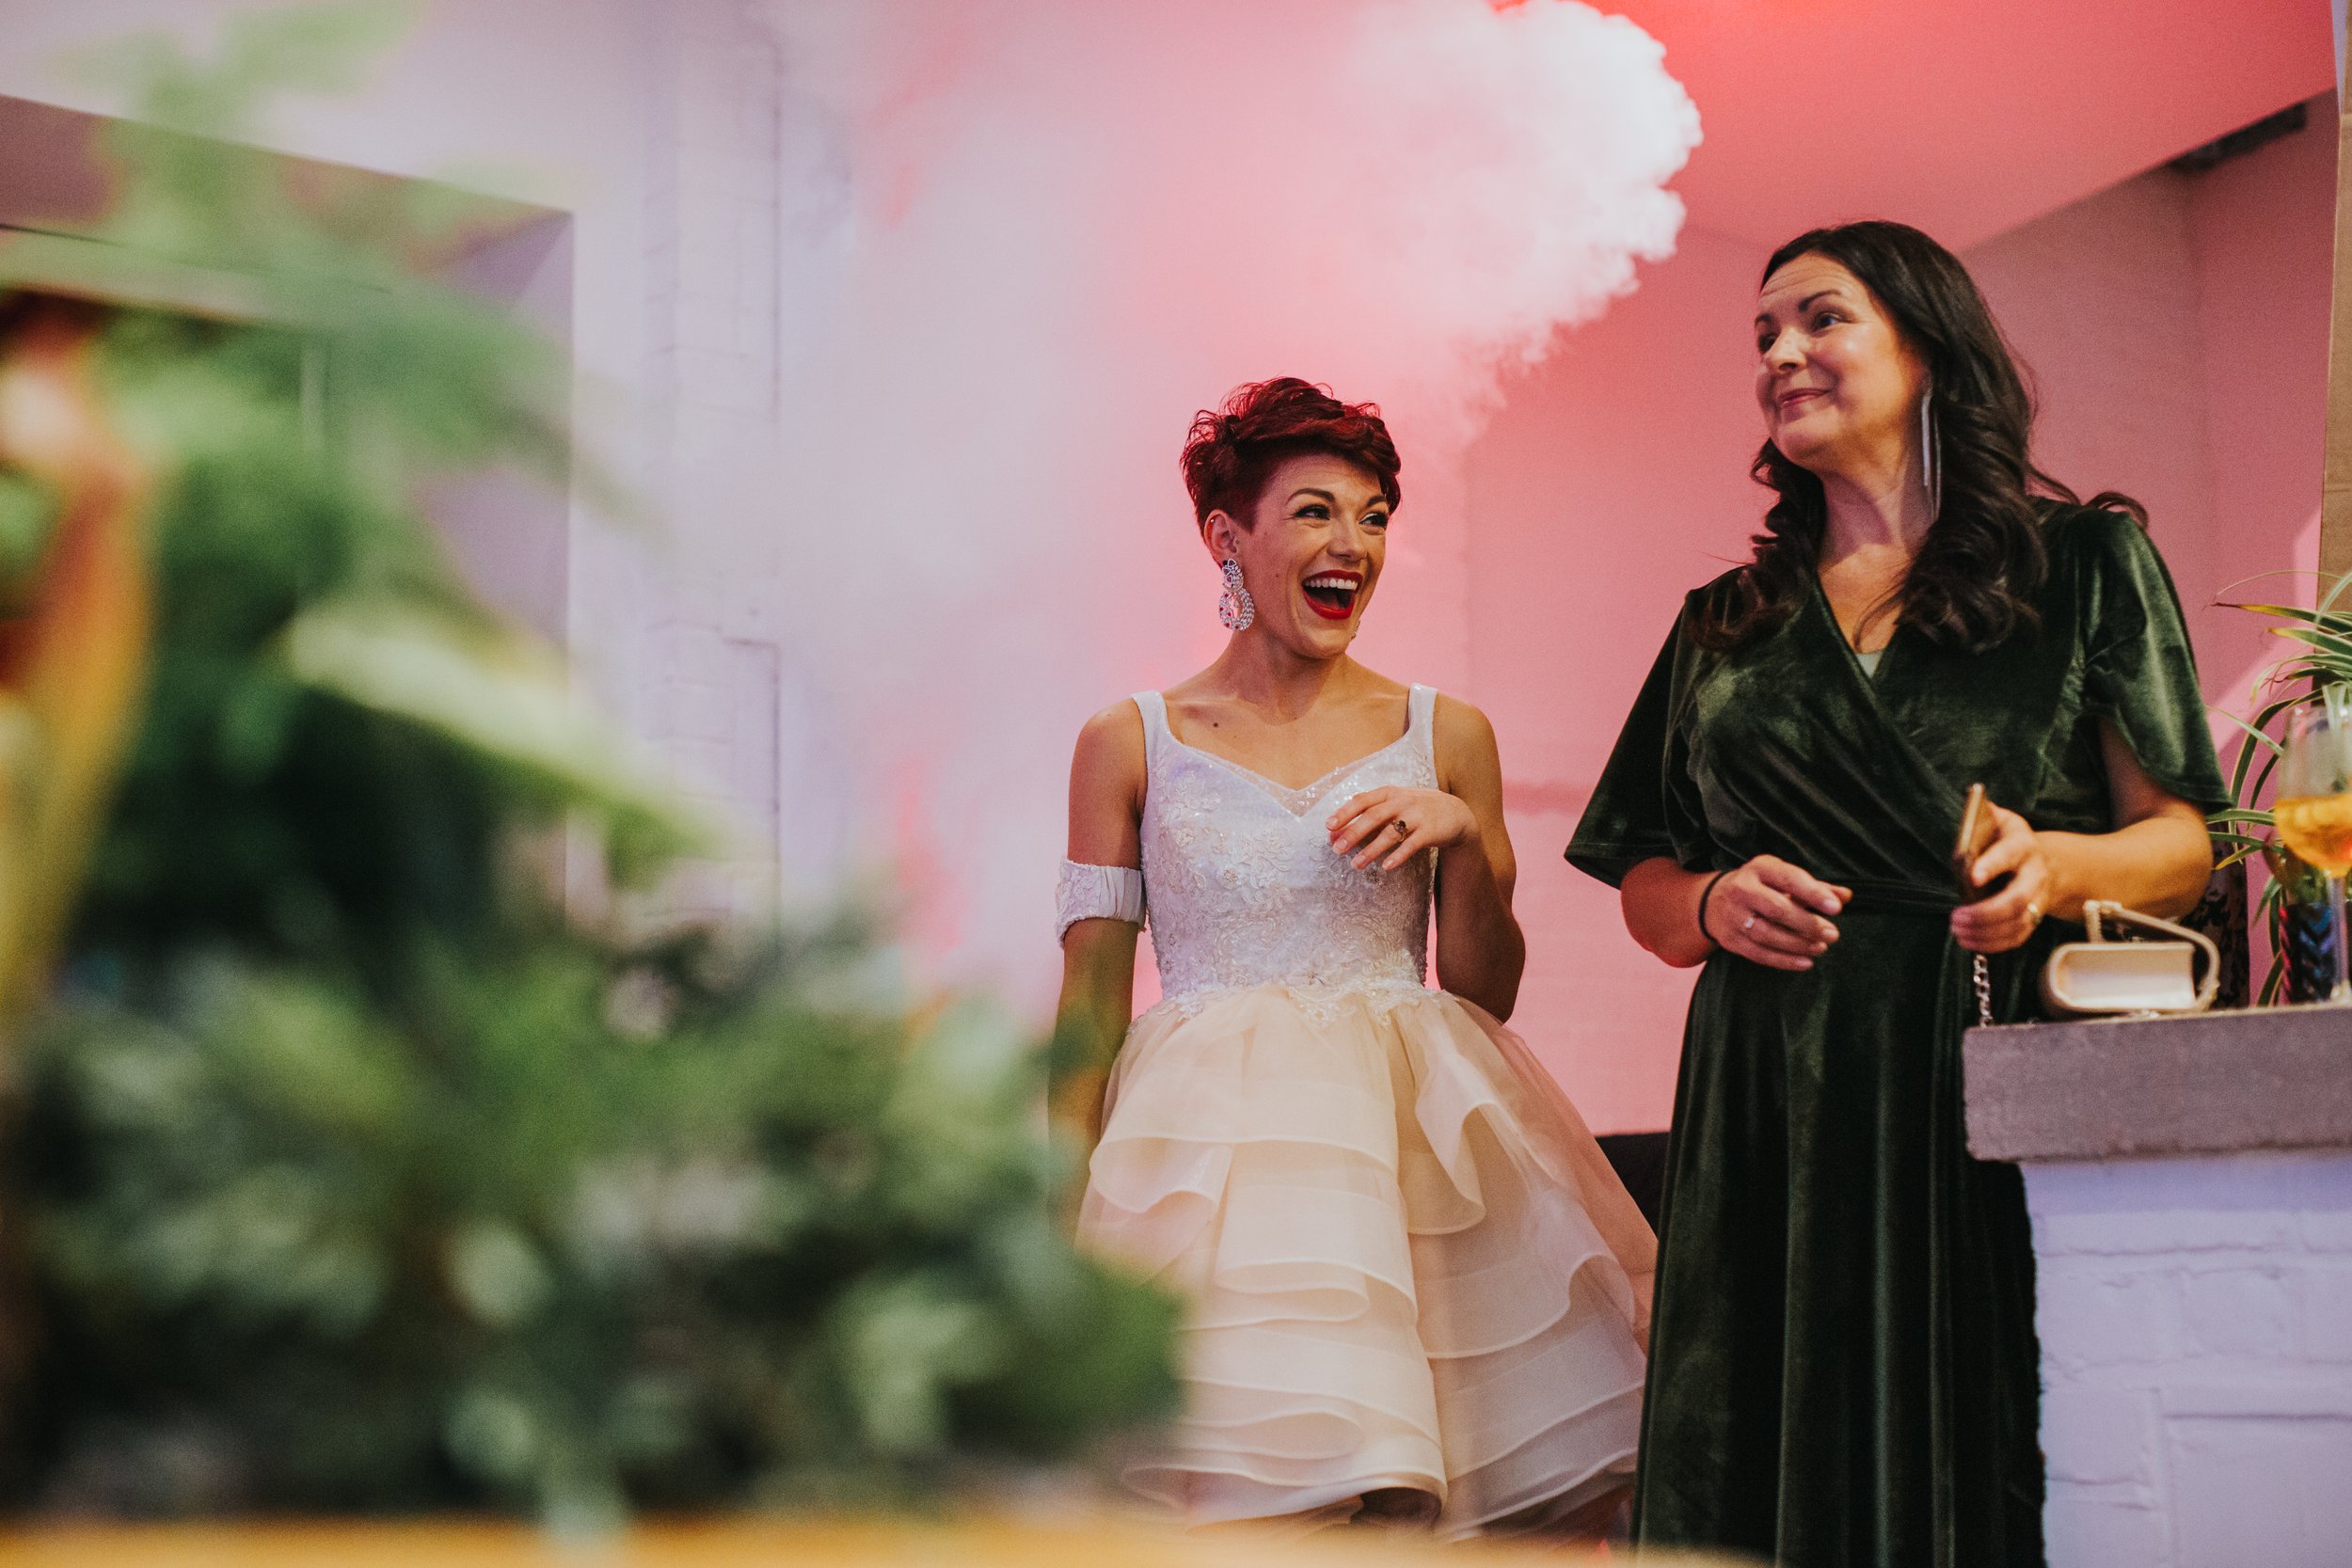
[[[1684,230],[1508,388],[1470,454],[1470,691],[1503,748],[1529,969],[1512,1018],[1599,1131],[1665,1126],[1689,971],[1642,952],[1569,842],[1682,595],[1757,517],[1759,244]]]

